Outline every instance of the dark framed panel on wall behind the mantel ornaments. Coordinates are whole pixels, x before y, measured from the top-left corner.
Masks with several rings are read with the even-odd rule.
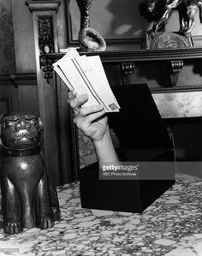
[[[107,51],[135,51],[145,48],[146,31],[152,22],[140,15],[140,3],[143,0],[92,0],[90,8],[90,27],[102,35]],[[76,0],[65,1],[68,24],[68,46],[79,46],[80,9]],[[199,13],[199,10],[198,10]],[[202,47],[202,25],[199,14],[195,15],[192,36],[195,47]],[[174,10],[165,31],[179,30],[179,14]]]

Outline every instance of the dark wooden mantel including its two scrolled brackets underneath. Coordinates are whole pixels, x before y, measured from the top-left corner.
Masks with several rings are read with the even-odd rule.
[[[135,63],[167,63],[170,76],[170,87],[176,86],[178,74],[181,72],[184,63],[186,63],[187,60],[202,59],[202,50],[197,47],[140,51],[80,51],[80,55],[84,54],[87,56],[99,55],[103,63],[119,63],[125,83],[129,80],[129,76],[134,73]],[[45,54],[45,57],[49,60],[48,63],[54,63],[56,60],[63,57],[63,55],[64,53],[48,53]],[[197,89],[199,89],[199,86]],[[159,90],[161,91],[161,88]]]

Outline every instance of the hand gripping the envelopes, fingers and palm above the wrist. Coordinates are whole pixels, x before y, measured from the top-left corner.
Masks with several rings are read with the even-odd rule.
[[[104,115],[103,105],[82,106],[87,100],[87,94],[77,95],[74,91],[68,92],[68,103],[74,110],[74,123],[86,136],[96,142],[102,140],[104,134],[108,132],[108,119]]]

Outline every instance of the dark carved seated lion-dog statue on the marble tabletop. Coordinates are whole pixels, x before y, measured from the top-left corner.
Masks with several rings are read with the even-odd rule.
[[[42,122],[37,114],[20,111],[3,115],[0,124],[4,232],[51,228],[61,213],[41,156]]]

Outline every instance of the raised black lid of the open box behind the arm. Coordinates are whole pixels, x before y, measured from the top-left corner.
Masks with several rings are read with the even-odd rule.
[[[120,112],[108,113],[121,148],[170,149],[172,142],[146,84],[112,86]]]

